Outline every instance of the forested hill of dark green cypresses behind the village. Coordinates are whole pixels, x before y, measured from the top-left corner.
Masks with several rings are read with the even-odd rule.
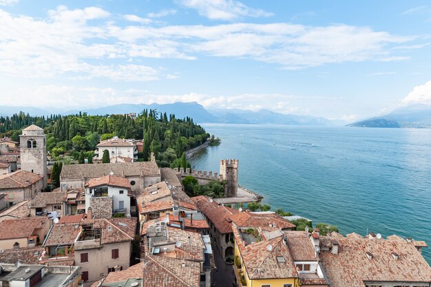
[[[118,136],[143,139],[144,152],[139,157],[148,160],[149,153],[156,154],[161,167],[178,165],[183,151],[201,145],[209,134],[193,123],[192,118],[178,119],[174,114],[158,113],[145,109],[137,118],[125,115],[87,116],[30,116],[14,114],[0,117],[0,137],[19,141],[21,129],[34,123],[45,129],[47,149],[53,160],[65,163],[83,162],[92,158],[99,140]],[[91,162],[91,160],[90,160]]]

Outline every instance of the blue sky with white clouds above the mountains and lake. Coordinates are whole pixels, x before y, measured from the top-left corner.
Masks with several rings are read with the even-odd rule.
[[[430,43],[430,1],[0,0],[0,105],[353,121],[431,104]]]

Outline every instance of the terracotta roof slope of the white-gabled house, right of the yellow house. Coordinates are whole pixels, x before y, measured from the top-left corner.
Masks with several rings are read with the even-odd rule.
[[[294,261],[318,261],[310,233],[302,231],[284,231],[288,248]]]

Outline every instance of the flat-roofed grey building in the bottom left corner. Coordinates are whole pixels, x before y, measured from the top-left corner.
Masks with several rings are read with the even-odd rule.
[[[79,281],[81,270],[73,266],[1,264],[0,268],[3,287],[77,287]]]

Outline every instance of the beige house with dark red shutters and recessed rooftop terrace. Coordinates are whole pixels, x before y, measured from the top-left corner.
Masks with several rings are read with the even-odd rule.
[[[74,259],[84,281],[96,281],[109,272],[129,268],[136,223],[136,218],[81,220]]]

